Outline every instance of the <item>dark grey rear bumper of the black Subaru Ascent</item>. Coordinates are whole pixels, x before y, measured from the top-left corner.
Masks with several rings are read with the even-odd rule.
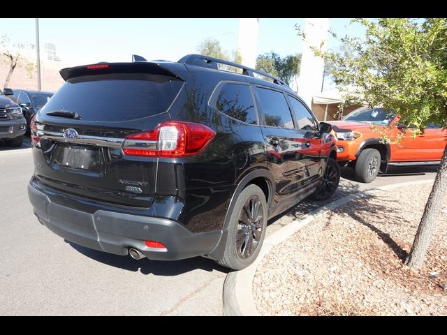
[[[89,214],[52,202],[31,184],[28,195],[34,214],[52,232],[75,244],[115,255],[127,255],[131,246],[150,260],[181,260],[208,255],[222,237],[222,230],[195,234],[164,218],[105,210]],[[160,241],[166,249],[149,248],[145,241]]]

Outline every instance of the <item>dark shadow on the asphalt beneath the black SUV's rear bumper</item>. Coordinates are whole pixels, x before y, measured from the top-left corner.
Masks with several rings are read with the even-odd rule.
[[[112,253],[104,253],[103,251],[96,251],[94,249],[80,246],[71,241],[65,240],[76,251],[82,253],[82,255],[101,262],[110,267],[117,267],[126,271],[137,272],[142,274],[154,274],[155,276],[177,276],[178,274],[184,274],[185,272],[193,271],[195,269],[202,269],[205,271],[220,271],[228,274],[230,271],[225,267],[221,267],[214,262],[203,257],[188,258],[186,260],[174,260],[174,261],[159,261],[148,260],[143,258],[142,260],[134,260],[131,256],[114,255]]]

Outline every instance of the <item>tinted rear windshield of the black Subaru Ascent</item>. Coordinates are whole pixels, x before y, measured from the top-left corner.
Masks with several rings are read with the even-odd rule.
[[[182,80],[166,75],[119,73],[75,77],[52,96],[42,112],[67,110],[82,121],[129,121],[168,110]]]

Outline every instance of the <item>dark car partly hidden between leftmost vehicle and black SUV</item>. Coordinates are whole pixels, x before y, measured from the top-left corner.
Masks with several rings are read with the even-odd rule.
[[[53,96],[51,91],[37,91],[34,89],[14,89],[10,99],[22,107],[22,112],[27,119],[27,131],[31,117],[36,114]]]

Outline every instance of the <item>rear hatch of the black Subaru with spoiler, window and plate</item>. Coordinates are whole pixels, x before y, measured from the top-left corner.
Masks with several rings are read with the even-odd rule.
[[[66,83],[32,126],[35,175],[59,191],[149,207],[157,158],[127,156],[124,138],[169,120],[184,84],[181,64],[96,64],[61,70]],[[177,69],[177,71],[176,71]]]

